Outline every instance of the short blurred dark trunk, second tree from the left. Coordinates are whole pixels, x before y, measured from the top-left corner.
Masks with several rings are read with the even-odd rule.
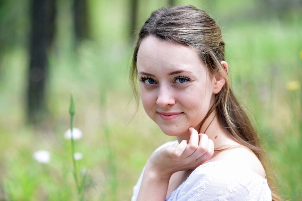
[[[76,42],[89,38],[86,0],[73,0],[73,23]]]

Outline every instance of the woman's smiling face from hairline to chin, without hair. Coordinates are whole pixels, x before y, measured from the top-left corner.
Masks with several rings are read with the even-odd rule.
[[[147,36],[137,71],[143,107],[165,134],[178,136],[199,126],[214,99],[214,82],[197,51]]]

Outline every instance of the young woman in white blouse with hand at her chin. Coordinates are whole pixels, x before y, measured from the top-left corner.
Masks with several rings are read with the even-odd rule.
[[[193,6],[154,11],[140,30],[130,78],[169,136],[153,152],[133,200],[279,200],[259,140],[229,85],[218,24]]]

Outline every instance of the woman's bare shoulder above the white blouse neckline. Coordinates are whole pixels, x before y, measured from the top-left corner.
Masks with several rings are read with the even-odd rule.
[[[257,158],[251,151],[243,147],[237,147],[234,149],[228,149],[217,154],[207,162],[214,162],[220,160],[234,161],[240,165],[244,165],[250,168],[255,173],[259,174],[261,177],[265,178],[265,170]]]

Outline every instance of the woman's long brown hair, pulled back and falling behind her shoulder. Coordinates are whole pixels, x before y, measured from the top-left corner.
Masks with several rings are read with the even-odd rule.
[[[210,76],[220,74],[226,80],[223,88],[215,94],[215,101],[205,115],[201,126],[216,109],[220,125],[230,138],[250,149],[260,160],[265,170],[265,154],[262,151],[255,129],[230,89],[228,75],[220,61],[224,60],[224,46],[219,25],[205,11],[191,5],[163,7],[154,11],[140,30],[133,53],[130,69],[130,82],[138,102],[137,93],[137,52],[146,36],[182,44],[194,48],[207,66]],[[221,151],[224,149],[220,149]],[[216,150],[217,151],[217,150]],[[268,183],[272,200],[280,200],[274,193],[271,178]]]

